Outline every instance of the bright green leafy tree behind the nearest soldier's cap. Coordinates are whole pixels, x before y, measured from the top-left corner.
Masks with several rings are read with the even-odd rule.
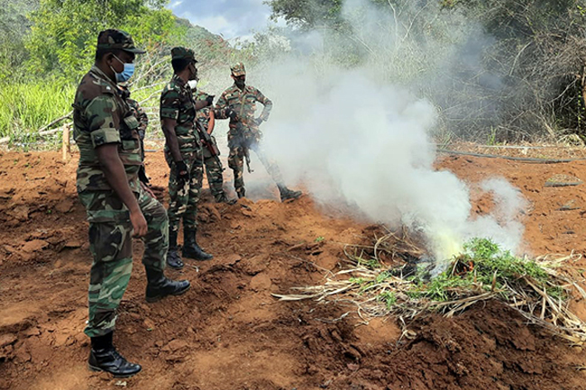
[[[174,32],[164,0],[41,0],[26,39],[34,74],[77,79],[93,61],[98,32],[118,28],[152,47]]]

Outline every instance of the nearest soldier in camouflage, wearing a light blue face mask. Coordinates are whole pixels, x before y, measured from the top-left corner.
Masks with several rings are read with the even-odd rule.
[[[100,32],[96,62],[82,78],[73,104],[78,196],[87,210],[94,258],[85,330],[91,338],[88,366],[114,376],[133,376],[141,370],[112,343],[116,308],[133,268],[132,237],[144,242],[147,302],[189,288],[187,280],[175,282],[163,274],[169,245],[167,213],[138,179],[142,167],[138,122],[116,86],[132,76],[134,56],[143,52],[134,47],[127,32]]]

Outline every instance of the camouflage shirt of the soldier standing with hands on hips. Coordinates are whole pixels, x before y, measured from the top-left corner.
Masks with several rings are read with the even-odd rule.
[[[230,107],[238,114],[244,125],[254,127],[255,125],[253,124],[252,119],[254,119],[256,102],[260,102],[264,105],[260,118],[263,121],[266,121],[269,118],[272,102],[266,98],[265,95],[262,95],[261,91],[254,86],[244,86],[244,89],[241,91],[240,88],[234,84],[222,93],[215,104],[215,109],[221,110]],[[230,120],[230,122],[232,123],[233,121]]]

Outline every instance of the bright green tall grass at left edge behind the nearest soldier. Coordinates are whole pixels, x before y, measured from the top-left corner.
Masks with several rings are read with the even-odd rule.
[[[1,84],[0,137],[36,141],[42,126],[69,113],[76,87],[56,80]]]

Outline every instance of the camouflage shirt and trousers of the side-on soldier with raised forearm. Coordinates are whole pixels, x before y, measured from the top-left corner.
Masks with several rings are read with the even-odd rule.
[[[196,107],[191,88],[179,76],[174,75],[160,95],[160,118],[175,119],[175,134],[179,141],[179,151],[188,166],[189,181],[182,183],[177,177],[177,168],[171,158],[168,145],[165,145],[165,159],[170,168],[169,174],[169,226],[179,231],[179,220],[183,217],[185,229],[197,227],[197,202],[204,177],[204,160],[201,142],[195,124]]]

